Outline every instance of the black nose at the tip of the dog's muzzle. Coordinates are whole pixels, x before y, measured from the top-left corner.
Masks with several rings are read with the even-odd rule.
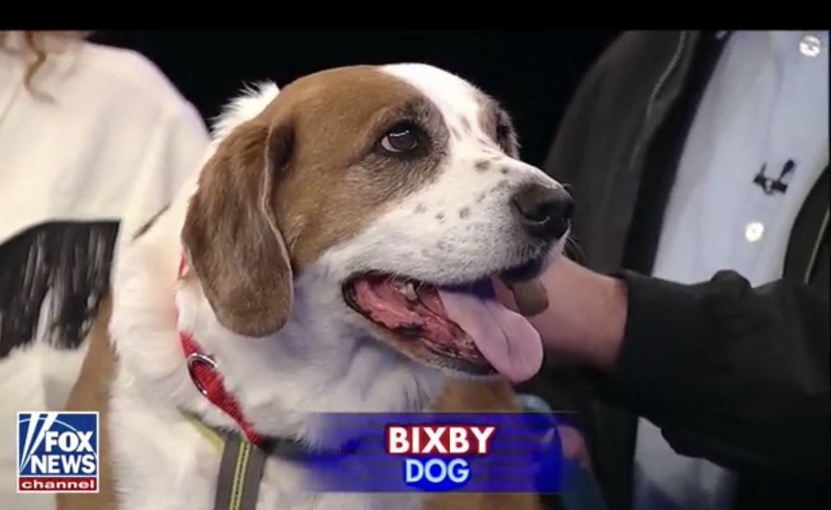
[[[519,223],[530,236],[547,240],[563,237],[574,213],[574,200],[565,189],[528,184],[511,198]]]

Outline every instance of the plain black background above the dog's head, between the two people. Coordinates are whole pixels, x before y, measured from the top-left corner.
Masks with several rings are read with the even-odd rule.
[[[101,31],[140,51],[206,120],[245,82],[279,86],[332,66],[420,61],[473,81],[514,116],[523,159],[541,164],[578,81],[618,32]]]

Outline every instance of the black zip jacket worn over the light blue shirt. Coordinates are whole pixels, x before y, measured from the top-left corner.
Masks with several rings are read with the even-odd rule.
[[[751,288],[729,271],[698,285],[638,276],[652,269],[686,133],[722,46],[704,32],[623,34],[584,78],[545,164],[577,201],[579,255],[626,279],[629,311],[612,374],[572,385],[569,374],[548,372],[529,387],[582,411],[614,510],[632,507],[635,414],[678,453],[739,473],[736,508],[829,502],[828,169],[794,223],[778,282]]]

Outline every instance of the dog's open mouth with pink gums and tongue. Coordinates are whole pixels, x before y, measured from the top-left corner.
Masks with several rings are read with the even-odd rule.
[[[518,382],[529,379],[542,364],[537,331],[496,300],[489,278],[438,287],[372,272],[349,279],[343,297],[386,331],[385,340],[396,350],[427,365],[471,375],[498,372]]]

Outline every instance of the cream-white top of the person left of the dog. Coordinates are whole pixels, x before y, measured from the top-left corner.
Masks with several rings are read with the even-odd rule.
[[[134,51],[85,42],[51,56],[33,86],[52,101],[24,88],[25,66],[0,51],[0,245],[75,220],[120,222],[122,246],[198,171],[209,144],[202,118]],[[61,409],[85,353],[39,341],[0,360],[0,507],[54,508],[51,495],[15,493],[15,413]]]

